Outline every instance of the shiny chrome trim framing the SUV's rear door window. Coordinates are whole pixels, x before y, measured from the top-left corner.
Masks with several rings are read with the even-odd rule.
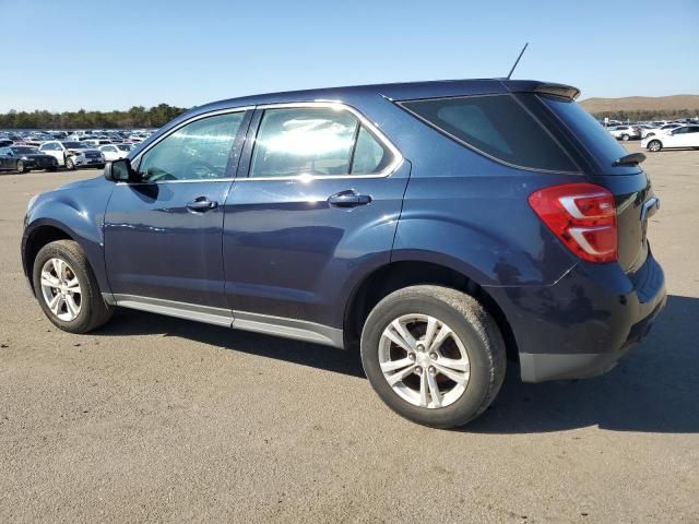
[[[365,117],[359,110],[352,107],[348,104],[343,102],[335,100],[313,100],[313,102],[288,102],[288,103],[279,103],[279,104],[261,104],[257,106],[257,109],[293,109],[298,107],[309,107],[309,108],[329,108],[337,111],[348,111],[352,114],[362,126],[365,126],[369,132],[378,140],[378,142],[389,150],[393,159],[391,163],[381,169],[379,172],[372,174],[345,174],[345,175],[294,175],[291,177],[250,177],[250,172],[248,171],[247,177],[236,178],[237,182],[264,182],[264,181],[299,181],[299,182],[309,182],[313,180],[345,180],[345,179],[355,179],[355,178],[388,178],[393,172],[398,170],[398,168],[403,164],[403,154],[401,151],[381,132],[378,124],[371,122],[367,117]],[[257,140],[257,138],[254,139]],[[254,147],[254,146],[253,146]],[[252,151],[254,154],[254,151]],[[252,158],[250,158],[250,165],[252,165]]]

